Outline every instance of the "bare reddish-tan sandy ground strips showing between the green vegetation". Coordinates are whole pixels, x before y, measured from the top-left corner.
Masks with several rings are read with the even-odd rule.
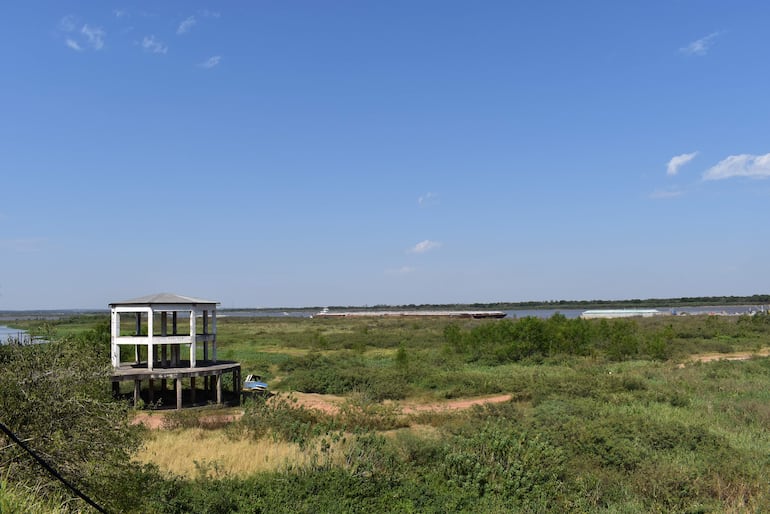
[[[734,352],[734,353],[704,353],[701,355],[693,355],[688,360],[689,363],[693,362],[714,362],[719,360],[728,361],[740,361],[748,360],[754,357],[768,357],[770,356],[770,348],[763,348],[757,352]],[[679,365],[680,368],[686,366],[686,363]],[[342,396],[335,396],[330,394],[315,394],[315,393],[291,393],[291,395],[297,399],[297,405],[301,405],[308,409],[320,410],[326,414],[337,414],[340,411],[340,406],[345,403],[345,398]],[[402,414],[418,414],[421,412],[444,412],[455,411],[462,409],[469,409],[474,405],[484,405],[487,403],[502,403],[510,401],[512,396],[510,394],[501,394],[496,396],[484,396],[476,398],[460,398],[456,400],[447,400],[442,402],[430,402],[430,403],[413,403],[403,402],[396,403],[395,405],[401,410]],[[269,400],[268,400],[269,401]],[[242,413],[231,413],[224,415],[212,414],[201,418],[201,422],[212,424],[219,424],[223,421],[235,421],[242,416]],[[138,412],[133,419],[134,424],[143,424],[150,429],[163,428],[163,412]]]

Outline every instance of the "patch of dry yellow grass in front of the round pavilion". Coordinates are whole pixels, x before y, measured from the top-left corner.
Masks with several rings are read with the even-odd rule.
[[[318,454],[314,449],[303,451],[297,444],[271,438],[231,439],[222,430],[192,428],[153,432],[135,459],[156,464],[162,471],[192,478],[200,469],[219,477],[247,476],[288,467],[301,469],[312,466],[314,459],[323,458]],[[341,446],[332,447],[329,459],[333,465],[344,462]]]

